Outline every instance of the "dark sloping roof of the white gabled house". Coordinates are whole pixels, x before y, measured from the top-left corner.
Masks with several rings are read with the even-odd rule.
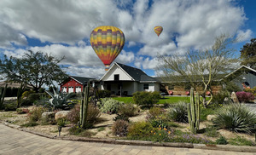
[[[120,64],[115,62],[118,66],[120,66],[125,72],[127,72],[131,78],[133,78],[135,81],[151,81],[151,82],[156,82],[157,80],[149,77],[145,72],[143,72],[142,70],[132,67],[132,66],[126,66],[124,64]]]

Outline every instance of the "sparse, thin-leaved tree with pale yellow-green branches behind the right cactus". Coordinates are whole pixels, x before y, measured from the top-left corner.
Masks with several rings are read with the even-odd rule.
[[[189,49],[184,55],[159,55],[157,67],[159,76],[166,83],[188,84],[199,92],[204,106],[212,101],[212,83],[217,83],[221,75],[233,70],[237,59],[233,58],[233,40],[222,35],[217,37],[212,47],[204,50]],[[206,100],[206,92],[211,99]]]

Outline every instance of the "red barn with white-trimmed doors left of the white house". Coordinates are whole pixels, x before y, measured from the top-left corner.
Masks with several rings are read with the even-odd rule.
[[[70,76],[65,80],[63,83],[61,83],[61,91],[66,93],[78,93],[82,92],[84,88],[84,84],[87,83],[90,79],[95,78],[84,78],[84,77],[74,77]]]

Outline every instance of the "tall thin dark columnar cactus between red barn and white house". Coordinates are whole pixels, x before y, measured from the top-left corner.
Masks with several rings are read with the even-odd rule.
[[[81,101],[81,106],[80,106],[80,124],[83,129],[86,128],[86,119],[87,119],[88,102],[89,102],[89,90],[90,90],[90,82],[88,82],[87,86],[84,89],[84,100]]]

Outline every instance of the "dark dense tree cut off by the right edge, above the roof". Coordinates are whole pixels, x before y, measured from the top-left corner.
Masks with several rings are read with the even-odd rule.
[[[251,39],[251,43],[246,43],[241,48],[241,65],[256,69],[256,38]]]

